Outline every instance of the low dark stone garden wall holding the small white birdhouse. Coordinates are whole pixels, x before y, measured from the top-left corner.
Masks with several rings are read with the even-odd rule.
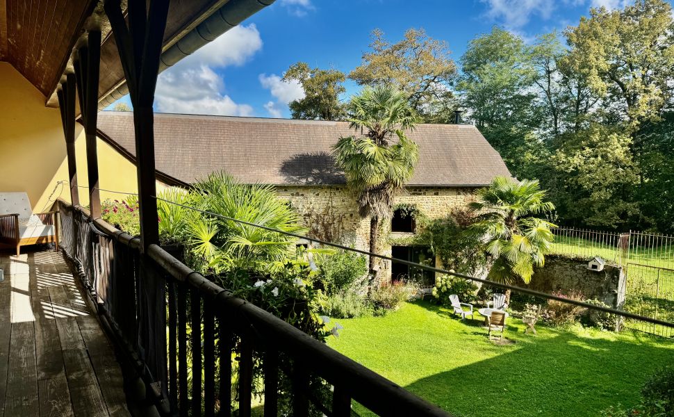
[[[609,306],[621,307],[625,302],[625,272],[616,265],[604,265],[604,270],[587,269],[590,259],[545,256],[545,266],[535,268],[531,283],[536,291],[554,293],[580,292],[584,299],[598,299]]]

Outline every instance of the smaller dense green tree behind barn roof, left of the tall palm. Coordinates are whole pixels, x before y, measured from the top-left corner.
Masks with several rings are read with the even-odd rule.
[[[345,80],[344,73],[338,70],[311,68],[302,62],[291,65],[283,81],[297,81],[304,90],[304,98],[288,105],[293,119],[343,120],[345,106],[339,96],[346,91],[342,85]]]

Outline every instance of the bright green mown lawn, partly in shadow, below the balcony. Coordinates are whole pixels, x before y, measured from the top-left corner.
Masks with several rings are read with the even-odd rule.
[[[461,322],[425,302],[336,321],[344,329],[331,347],[457,416],[597,416],[634,404],[652,371],[674,359],[664,338],[543,326],[532,336],[516,319],[505,334],[513,343],[497,345],[477,312]]]

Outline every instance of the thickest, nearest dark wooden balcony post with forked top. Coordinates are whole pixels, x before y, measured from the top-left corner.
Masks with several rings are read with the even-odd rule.
[[[141,256],[138,279],[138,343],[153,380],[168,398],[166,366],[166,281],[147,256],[159,243],[154,163],[154,90],[159,74],[169,0],[135,0],[122,14],[121,0],[106,0],[104,10],[113,29],[117,51],[133,105]],[[149,9],[147,6],[149,5]],[[199,371],[200,375],[200,371]],[[149,389],[149,387],[146,387]]]

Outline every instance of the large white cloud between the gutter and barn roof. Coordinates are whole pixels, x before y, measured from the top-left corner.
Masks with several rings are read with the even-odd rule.
[[[164,113],[253,115],[253,108],[224,94],[224,80],[215,68],[243,65],[262,48],[254,24],[235,26],[194,54],[160,74],[157,110]]]

